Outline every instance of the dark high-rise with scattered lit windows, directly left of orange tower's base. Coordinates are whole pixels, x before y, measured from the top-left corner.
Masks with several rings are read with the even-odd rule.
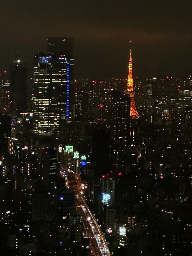
[[[130,127],[130,96],[123,92],[112,92],[113,142],[119,150],[128,146]]]

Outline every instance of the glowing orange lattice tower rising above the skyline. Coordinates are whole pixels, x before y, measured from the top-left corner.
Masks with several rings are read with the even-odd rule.
[[[131,99],[131,104],[130,104],[130,116],[133,119],[138,119],[140,118],[139,113],[137,112],[136,106],[135,106],[135,101],[134,101],[134,91],[133,91],[133,72],[132,72],[132,66],[133,66],[133,61],[132,61],[132,56],[131,56],[131,49],[130,49],[130,57],[129,57],[129,75],[127,79],[127,94],[130,95]]]

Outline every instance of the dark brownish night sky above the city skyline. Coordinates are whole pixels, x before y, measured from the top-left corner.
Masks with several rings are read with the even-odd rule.
[[[0,0],[0,71],[17,54],[32,73],[47,37],[74,38],[75,78],[191,75],[191,0]]]

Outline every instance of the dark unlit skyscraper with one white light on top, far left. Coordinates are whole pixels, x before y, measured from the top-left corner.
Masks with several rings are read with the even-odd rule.
[[[17,56],[10,64],[10,113],[17,117],[27,110],[27,65]]]

